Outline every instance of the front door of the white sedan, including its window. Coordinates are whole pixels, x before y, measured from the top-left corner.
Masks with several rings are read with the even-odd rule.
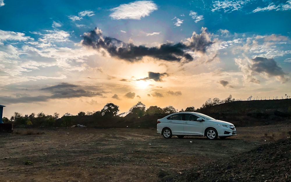
[[[185,114],[184,135],[203,135],[203,121],[197,121],[199,117],[194,114]]]

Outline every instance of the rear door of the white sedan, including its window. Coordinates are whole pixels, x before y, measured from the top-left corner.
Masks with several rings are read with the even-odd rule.
[[[172,130],[173,135],[183,135],[184,133],[184,121],[183,114],[173,114],[168,118],[168,124]]]

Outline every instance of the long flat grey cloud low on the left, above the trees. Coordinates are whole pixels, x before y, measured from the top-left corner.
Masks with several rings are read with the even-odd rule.
[[[15,103],[32,103],[32,102],[44,102],[49,99],[62,99],[62,98],[79,98],[79,97],[94,97],[102,96],[101,92],[94,92],[88,90],[88,87],[61,83],[54,86],[49,86],[40,89],[41,91],[47,91],[50,96],[20,96],[20,97],[0,97],[1,102],[8,104]]]

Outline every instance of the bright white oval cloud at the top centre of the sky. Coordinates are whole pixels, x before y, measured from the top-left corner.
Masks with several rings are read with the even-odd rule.
[[[112,8],[109,16],[112,19],[135,19],[140,20],[141,17],[149,16],[150,13],[157,10],[157,5],[152,1],[134,1],[129,4],[121,4],[116,8]]]

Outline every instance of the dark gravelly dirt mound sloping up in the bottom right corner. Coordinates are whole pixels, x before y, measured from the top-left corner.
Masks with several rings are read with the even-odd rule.
[[[177,173],[161,171],[159,177],[163,182],[290,182],[291,140],[281,139]]]

